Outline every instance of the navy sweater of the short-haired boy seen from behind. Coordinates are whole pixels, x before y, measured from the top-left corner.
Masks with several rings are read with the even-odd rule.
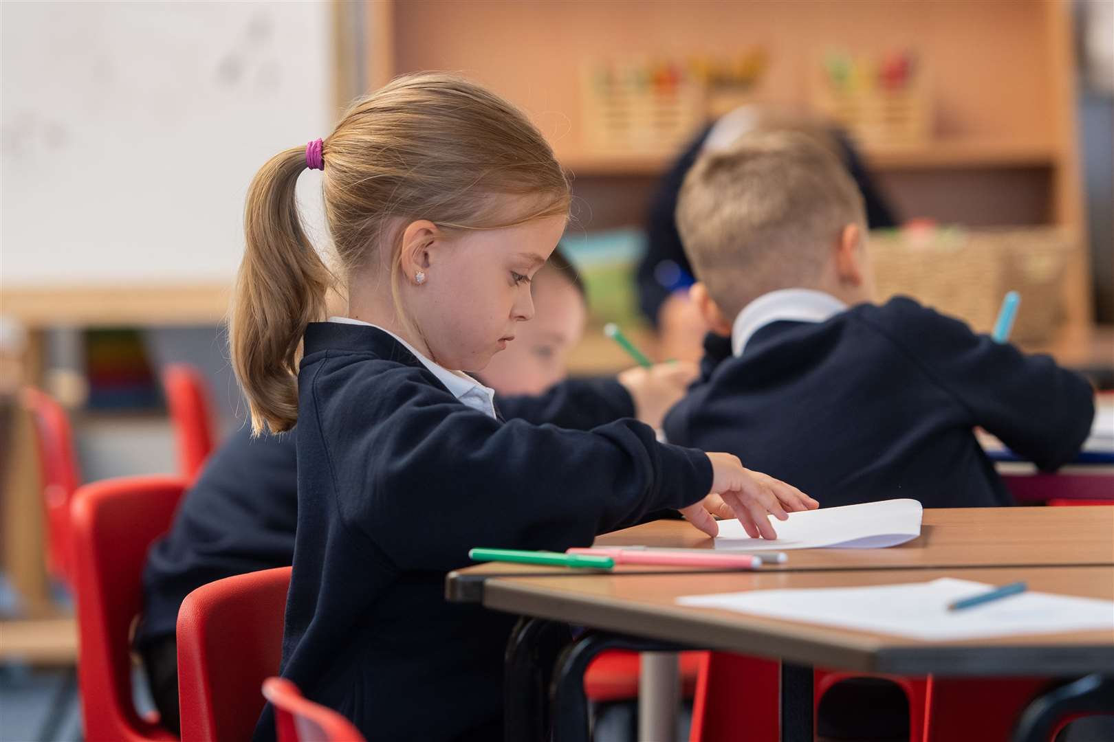
[[[1008,505],[973,428],[1052,471],[1079,451],[1094,415],[1083,377],[908,298],[772,323],[740,357],[710,335],[705,352],[701,378],[665,417],[666,439],[734,453],[823,507]]]

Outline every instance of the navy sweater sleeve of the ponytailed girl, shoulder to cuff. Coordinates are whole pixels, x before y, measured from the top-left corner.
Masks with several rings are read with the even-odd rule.
[[[319,429],[344,526],[397,568],[459,567],[473,546],[589,545],[711,488],[707,456],[657,443],[637,421],[590,432],[500,423],[461,405],[429,372],[374,368],[382,364],[303,360],[302,377],[331,421]]]

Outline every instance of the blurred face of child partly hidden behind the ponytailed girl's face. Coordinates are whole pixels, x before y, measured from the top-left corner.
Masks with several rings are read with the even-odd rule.
[[[534,276],[534,317],[483,368],[483,383],[502,395],[541,394],[568,376],[568,354],[588,316],[584,280],[557,247]]]

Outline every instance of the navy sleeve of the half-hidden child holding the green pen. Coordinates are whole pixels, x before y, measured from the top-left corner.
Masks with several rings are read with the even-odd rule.
[[[496,397],[496,409],[506,419],[574,431],[635,416],[634,399],[615,378],[570,378],[537,396]]]

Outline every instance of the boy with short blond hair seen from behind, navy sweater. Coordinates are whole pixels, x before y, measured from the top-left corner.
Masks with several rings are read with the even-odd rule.
[[[976,426],[1044,471],[1087,437],[1083,377],[912,299],[870,304],[862,198],[809,137],[705,155],[677,224],[693,300],[719,336],[666,416],[671,443],[736,453],[822,506],[961,507],[1012,502]]]

